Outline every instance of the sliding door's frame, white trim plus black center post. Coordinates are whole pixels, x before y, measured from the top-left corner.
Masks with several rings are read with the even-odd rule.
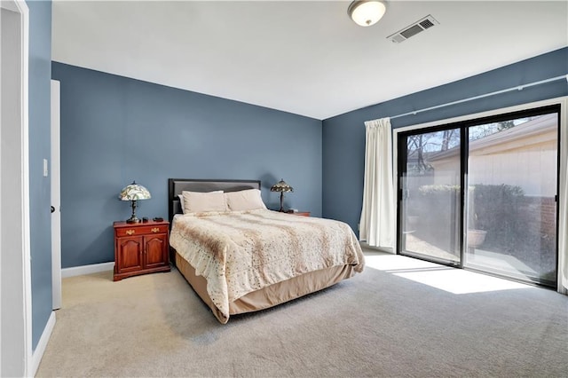
[[[568,163],[566,162],[566,158],[568,157],[568,130],[567,130],[567,125],[568,125],[568,111],[566,109],[566,107],[568,106],[568,97],[561,97],[561,98],[550,98],[550,99],[546,99],[546,100],[541,100],[541,101],[536,101],[536,102],[532,102],[532,103],[526,103],[526,104],[521,104],[521,105],[517,105],[517,106],[509,106],[509,107],[504,107],[504,108],[499,108],[499,109],[495,109],[495,110],[491,110],[491,111],[486,111],[486,112],[480,112],[477,114],[467,114],[467,115],[462,115],[459,117],[454,117],[454,118],[450,118],[450,119],[444,119],[444,120],[438,120],[438,121],[433,121],[433,122],[426,122],[426,123],[421,123],[421,124],[416,124],[416,125],[412,125],[412,126],[406,126],[406,127],[402,127],[402,128],[397,128],[393,130],[393,146],[392,146],[392,154],[393,154],[393,182],[394,182],[394,193],[397,193],[396,196],[394,196],[394,206],[396,207],[395,209],[397,209],[396,212],[396,224],[397,224],[397,237],[395,238],[395,245],[394,245],[394,251],[396,254],[399,254],[400,252],[400,236],[399,236],[399,224],[400,224],[400,209],[399,209],[399,190],[400,190],[400,182],[398,179],[399,176],[399,171],[400,171],[400,167],[398,165],[398,148],[400,148],[399,146],[399,142],[398,142],[398,138],[402,133],[405,134],[409,134],[412,133],[412,131],[417,131],[417,133],[420,133],[419,130],[424,130],[424,129],[431,129],[431,130],[444,130],[445,128],[447,129],[447,127],[450,124],[454,124],[454,129],[461,129],[461,132],[464,132],[465,130],[467,130],[467,127],[469,125],[471,125],[472,123],[477,123],[480,119],[484,119],[484,118],[491,118],[492,120],[495,119],[495,117],[500,116],[502,114],[511,114],[511,113],[517,113],[517,112],[523,112],[523,111],[530,111],[531,109],[535,109],[535,108],[539,108],[539,107],[545,107],[545,106],[554,106],[554,105],[559,105],[560,106],[560,110],[559,110],[559,118],[560,118],[560,124],[559,124],[559,130],[558,130],[558,152],[557,152],[557,159],[558,159],[558,172],[557,172],[557,196],[558,196],[558,201],[556,201],[556,209],[557,209],[557,221],[556,221],[556,259],[557,259],[557,269],[556,269],[556,282],[557,282],[557,286],[556,286],[556,290],[560,293],[563,294],[568,294],[568,235],[566,235],[566,232],[568,232],[568,216],[562,214],[562,210],[563,209],[567,209],[566,207],[566,201],[568,201],[567,195],[564,195],[564,193],[568,193],[568,189],[564,190],[564,192],[562,191],[563,186],[568,185],[568,177],[567,177],[567,165]],[[467,151],[467,140],[464,139],[468,139],[468,138],[461,138],[461,145],[465,145],[465,146],[461,146],[461,148],[465,148],[465,150],[463,151]],[[401,151],[400,154],[406,154],[405,151]],[[461,187],[464,187],[465,182],[467,180],[467,174],[468,174],[468,167],[467,167],[467,159],[461,159],[461,169],[463,171],[463,175],[461,175]],[[463,248],[463,243],[465,242],[464,240],[464,235],[463,235],[463,227],[465,226],[463,219],[464,219],[464,206],[463,204],[465,203],[465,193],[464,191],[461,191],[461,264],[460,266],[462,266],[463,264],[463,254],[464,254],[464,248]],[[455,266],[455,265],[452,265]]]

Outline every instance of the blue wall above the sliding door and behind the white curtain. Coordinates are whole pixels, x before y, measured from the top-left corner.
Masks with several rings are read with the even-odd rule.
[[[365,121],[405,114],[425,107],[566,74],[568,74],[568,48],[324,120],[323,187],[326,189],[322,196],[323,217],[342,220],[350,224],[353,230],[357,230],[363,203]],[[566,95],[568,95],[568,83],[561,80],[523,91],[512,91],[461,105],[396,118],[391,124],[393,128],[398,128]]]

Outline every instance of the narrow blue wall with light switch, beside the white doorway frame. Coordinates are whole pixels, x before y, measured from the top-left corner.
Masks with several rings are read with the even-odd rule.
[[[29,212],[32,281],[32,348],[51,314],[51,181],[43,177],[50,160],[51,1],[29,8]]]

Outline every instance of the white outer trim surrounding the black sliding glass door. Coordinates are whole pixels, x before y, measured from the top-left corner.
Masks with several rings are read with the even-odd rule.
[[[567,76],[568,80],[568,76]],[[430,128],[434,126],[438,126],[440,124],[446,123],[457,123],[457,122],[467,122],[472,119],[483,118],[494,116],[503,113],[514,113],[518,111],[522,111],[528,108],[540,107],[540,106],[550,106],[560,104],[560,130],[559,130],[559,176],[558,176],[558,186],[560,190],[558,191],[558,202],[557,202],[557,209],[558,209],[558,219],[557,219],[557,249],[558,249],[558,264],[557,264],[557,287],[556,290],[562,294],[568,294],[568,215],[565,215],[564,212],[568,209],[568,97],[559,97],[559,98],[549,98],[540,101],[535,101],[526,104],[520,104],[517,106],[509,106],[503,107],[500,109],[489,110],[486,112],[480,112],[476,114],[466,114],[461,115],[459,117],[444,119],[444,120],[437,120],[432,122],[425,122],[420,124],[415,124],[411,126],[406,126],[402,128],[393,129],[392,133],[392,175],[394,180],[394,190],[395,193],[398,189],[398,134],[401,132],[412,131],[412,130],[419,130]],[[563,192],[563,186],[566,188]],[[395,209],[397,209],[398,214],[398,195],[394,196],[394,203]],[[395,222],[397,223],[397,218]],[[398,229],[397,229],[397,238],[394,241],[394,251],[398,254]]]

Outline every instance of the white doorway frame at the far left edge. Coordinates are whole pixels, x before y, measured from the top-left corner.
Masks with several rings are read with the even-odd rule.
[[[0,65],[1,133],[5,143],[0,163],[10,157],[0,173],[2,266],[0,268],[0,375],[28,376],[32,363],[31,254],[29,233],[28,164],[28,33],[29,11],[24,0],[0,2],[2,12],[17,17],[2,23],[5,38]],[[7,161],[6,161],[7,162]],[[15,204],[15,205],[14,205]],[[10,237],[7,238],[6,236]],[[9,283],[9,285],[6,285]]]

